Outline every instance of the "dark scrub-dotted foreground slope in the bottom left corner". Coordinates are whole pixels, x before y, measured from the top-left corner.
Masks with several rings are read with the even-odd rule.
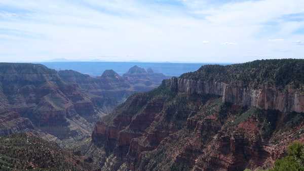
[[[90,170],[91,166],[55,143],[31,134],[0,137],[0,170]]]

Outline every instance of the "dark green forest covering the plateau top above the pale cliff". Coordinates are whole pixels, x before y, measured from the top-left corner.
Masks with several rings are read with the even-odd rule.
[[[304,60],[271,59],[256,60],[234,65],[204,65],[198,71],[182,74],[187,79],[204,81],[240,82],[257,88],[263,85],[284,89],[291,85],[302,91],[304,85]]]

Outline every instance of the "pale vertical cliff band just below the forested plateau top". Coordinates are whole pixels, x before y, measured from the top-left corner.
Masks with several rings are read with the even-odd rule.
[[[304,94],[292,86],[287,86],[284,90],[276,86],[254,89],[233,82],[191,80],[183,77],[164,80],[163,84],[178,93],[222,96],[223,102],[236,105],[282,112],[304,112]]]

